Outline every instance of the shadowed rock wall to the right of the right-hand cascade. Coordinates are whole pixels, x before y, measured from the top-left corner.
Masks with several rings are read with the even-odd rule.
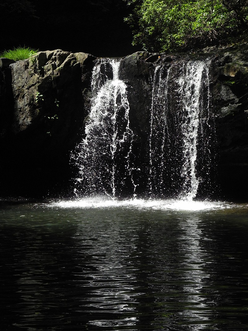
[[[247,201],[248,43],[203,51],[218,56],[213,87],[222,196]]]

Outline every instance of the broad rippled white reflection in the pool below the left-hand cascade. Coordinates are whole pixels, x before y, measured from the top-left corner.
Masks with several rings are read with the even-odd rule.
[[[101,229],[96,230],[93,238],[85,240],[82,237],[85,224],[79,224],[74,237],[78,242],[78,255],[85,256],[88,266],[82,269],[82,274],[89,279],[88,296],[78,311],[87,310],[92,316],[88,325],[135,325],[137,317],[129,315],[135,311],[136,298],[141,293],[130,261],[130,252],[136,250],[134,230],[115,220],[102,220]],[[85,245],[88,245],[87,251]],[[99,314],[104,318],[99,319]]]

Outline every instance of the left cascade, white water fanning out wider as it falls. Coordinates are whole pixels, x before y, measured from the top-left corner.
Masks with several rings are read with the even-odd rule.
[[[84,138],[72,154],[79,169],[74,189],[77,196],[115,198],[116,189],[121,192],[127,181],[132,181],[128,155],[133,133],[126,85],[118,79],[118,71],[119,62],[113,59],[102,59],[93,70],[92,107]]]

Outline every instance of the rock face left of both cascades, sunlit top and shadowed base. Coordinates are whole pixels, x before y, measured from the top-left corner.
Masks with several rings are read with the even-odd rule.
[[[55,50],[2,65],[0,166],[5,194],[42,195],[67,180],[94,59]]]

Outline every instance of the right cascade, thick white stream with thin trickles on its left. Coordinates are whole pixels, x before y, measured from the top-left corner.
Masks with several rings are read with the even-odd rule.
[[[202,143],[209,144],[204,134],[211,117],[209,65],[210,59],[180,60],[155,69],[149,143],[151,197],[174,195],[192,200],[196,196],[200,134],[205,139]],[[204,150],[201,157],[209,163],[211,151],[200,148]]]

